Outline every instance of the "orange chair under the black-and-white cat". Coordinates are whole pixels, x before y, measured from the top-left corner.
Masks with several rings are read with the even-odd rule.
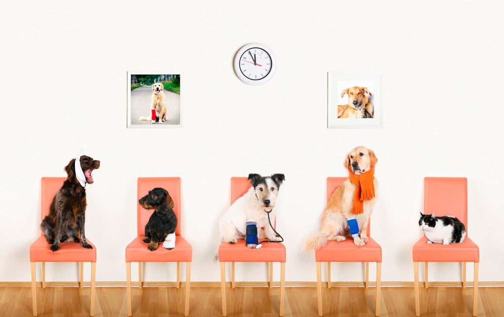
[[[423,181],[425,213],[436,216],[450,215],[459,218],[467,226],[467,178],[465,177],[425,177]],[[418,262],[425,262],[425,288],[428,288],[429,262],[463,262],[462,287],[466,288],[466,262],[474,262],[473,316],[478,312],[478,266],[479,248],[466,235],[464,242],[449,245],[427,243],[423,236],[413,245],[415,271],[415,313],[420,315],[420,291],[418,287]]]

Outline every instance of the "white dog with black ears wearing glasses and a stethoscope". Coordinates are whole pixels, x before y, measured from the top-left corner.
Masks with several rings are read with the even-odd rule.
[[[280,185],[285,180],[284,174],[273,174],[266,177],[259,174],[248,174],[248,179],[252,187],[238,198],[220,218],[221,241],[236,243],[238,239],[244,239],[247,222],[257,223],[259,239],[281,241],[281,238],[270,227],[268,212],[271,212],[270,217],[275,219],[275,203]],[[255,248],[256,244],[247,244],[247,247]]]

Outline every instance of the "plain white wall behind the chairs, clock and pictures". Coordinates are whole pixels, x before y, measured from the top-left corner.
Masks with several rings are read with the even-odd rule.
[[[500,229],[492,225],[504,222],[502,2],[250,6],[2,5],[0,281],[30,279],[40,177],[64,176],[81,148],[102,161],[87,189],[86,233],[98,248],[97,281],[125,280],[139,176],[182,178],[192,280],[218,281],[212,257],[217,221],[229,205],[229,178],[250,172],[285,173],[278,229],[286,239],[286,279],[314,281],[314,256],[300,246],[318,227],[326,177],[346,176],[344,156],[357,145],[379,158],[381,196],[371,231],[383,247],[384,281],[413,279],[424,176],[468,177],[469,236],[480,246],[480,280],[503,281]],[[263,86],[244,85],[234,75],[234,53],[248,42],[264,43],[277,56],[277,72]],[[172,69],[183,76],[183,129],[126,129],[126,72]],[[327,72],[339,70],[383,73],[383,129],[326,129]],[[148,264],[145,280],[173,280],[174,268]],[[267,278],[265,264],[236,270],[238,281]],[[76,264],[49,264],[47,280],[75,281],[77,272]],[[335,264],[333,272],[334,281],[363,278],[361,264]],[[460,277],[458,264],[432,265],[432,280]]]

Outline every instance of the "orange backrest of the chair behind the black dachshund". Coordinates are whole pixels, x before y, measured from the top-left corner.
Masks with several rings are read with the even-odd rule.
[[[177,216],[177,228],[175,234],[180,235],[180,177],[139,177],[137,182],[137,232],[138,235],[145,235],[145,225],[149,221],[154,210],[144,209],[138,203],[138,200],[149,193],[153,188],[161,187],[168,191],[173,203],[173,212]]]

